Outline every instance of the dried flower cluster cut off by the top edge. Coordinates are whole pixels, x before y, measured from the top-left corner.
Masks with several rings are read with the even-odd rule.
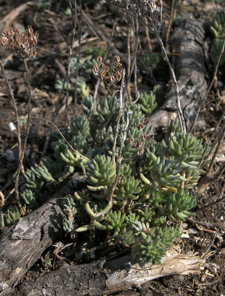
[[[125,11],[145,18],[149,11],[160,12],[160,8],[155,4],[155,0],[108,0],[112,4],[116,4]]]

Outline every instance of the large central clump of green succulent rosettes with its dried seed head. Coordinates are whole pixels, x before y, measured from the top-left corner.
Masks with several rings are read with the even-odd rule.
[[[112,73],[107,74],[110,68],[101,56],[92,70],[112,88],[122,73],[116,55],[115,60]],[[91,96],[83,97],[85,114],[92,101]],[[45,184],[60,183],[80,171],[86,176],[86,187],[65,196],[61,205],[65,213],[62,228],[76,242],[75,260],[84,255],[94,258],[95,250],[117,244],[121,249],[130,249],[132,259],[139,256],[141,263],[160,263],[167,248],[181,236],[176,221],[194,216],[191,209],[196,197],[189,190],[200,177],[197,167],[204,151],[202,140],[190,133],[181,134],[179,121],[174,119],[169,122],[165,138],[157,142],[149,121],[155,108],[152,92],[141,94],[140,103],[124,104],[117,138],[114,133],[119,98],[108,96],[103,102],[93,103],[91,118],[75,116],[63,131],[65,139],[55,134],[58,138],[51,144],[52,157],[43,158],[40,165],[26,171],[26,188],[21,194],[26,211],[30,213],[37,207]],[[1,212],[1,226],[17,217],[15,207]]]

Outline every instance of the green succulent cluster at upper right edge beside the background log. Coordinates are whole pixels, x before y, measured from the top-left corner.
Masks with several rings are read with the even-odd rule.
[[[210,57],[214,63],[217,62],[222,46],[223,46],[223,39],[225,36],[225,11],[222,8],[220,11],[217,12],[214,20],[210,23],[209,27],[210,31],[214,35],[214,41],[210,48]],[[225,62],[225,55],[224,53],[220,59],[220,65]]]

